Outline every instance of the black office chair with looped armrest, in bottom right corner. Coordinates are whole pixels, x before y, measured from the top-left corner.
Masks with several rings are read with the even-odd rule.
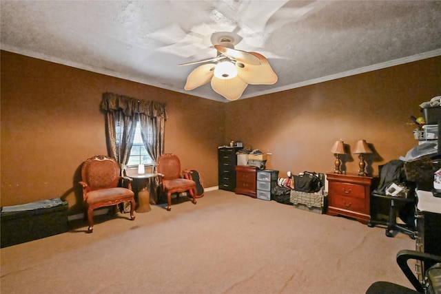
[[[426,282],[420,282],[410,269],[408,260],[420,260],[420,262],[429,262],[434,264],[424,275]],[[415,287],[416,291],[394,284],[391,282],[374,282],[369,286],[366,294],[415,294],[415,293],[441,293],[441,256],[413,250],[401,250],[397,254],[397,263],[400,269],[406,275],[407,279]]]

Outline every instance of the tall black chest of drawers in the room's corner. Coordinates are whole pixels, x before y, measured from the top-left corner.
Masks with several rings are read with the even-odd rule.
[[[236,151],[240,147],[218,148],[218,182],[219,189],[232,191],[236,189]]]

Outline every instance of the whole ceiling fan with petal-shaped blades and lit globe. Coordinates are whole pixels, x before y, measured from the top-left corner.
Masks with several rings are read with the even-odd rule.
[[[196,67],[187,77],[185,90],[193,90],[211,81],[214,92],[234,101],[242,96],[247,85],[272,85],[278,77],[268,60],[257,52],[234,49],[242,38],[234,32],[216,32],[211,41],[218,50],[216,57],[203,61],[183,63]],[[211,62],[211,63],[207,63]]]

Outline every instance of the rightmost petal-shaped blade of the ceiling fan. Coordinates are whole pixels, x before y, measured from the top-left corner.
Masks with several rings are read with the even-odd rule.
[[[244,64],[245,67],[240,67],[240,64],[236,63],[237,75],[250,85],[272,85],[276,83],[278,76],[269,65],[268,59],[256,52],[249,53],[260,60],[260,65]]]

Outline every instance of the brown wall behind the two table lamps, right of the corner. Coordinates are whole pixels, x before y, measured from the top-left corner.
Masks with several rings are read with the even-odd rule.
[[[338,139],[354,148],[365,139],[376,154],[367,169],[404,156],[415,147],[420,103],[441,95],[441,57],[339,78],[276,94],[227,103],[225,136],[270,152],[267,168],[295,174],[334,169],[330,149]],[[358,155],[342,158],[348,173],[358,171]]]

